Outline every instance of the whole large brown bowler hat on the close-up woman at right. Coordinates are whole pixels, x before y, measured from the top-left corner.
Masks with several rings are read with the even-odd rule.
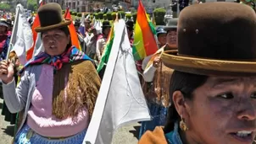
[[[195,4],[181,11],[177,33],[178,51],[164,52],[166,66],[200,75],[256,75],[252,8],[240,3]]]

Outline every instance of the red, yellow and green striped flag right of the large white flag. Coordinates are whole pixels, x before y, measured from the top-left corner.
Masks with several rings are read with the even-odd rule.
[[[155,40],[156,31],[153,23],[147,17],[141,0],[139,0],[134,31],[132,53],[136,61],[140,61],[144,57],[153,55],[158,51],[158,45]]]

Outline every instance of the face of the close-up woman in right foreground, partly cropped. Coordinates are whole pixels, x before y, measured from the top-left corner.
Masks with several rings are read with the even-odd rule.
[[[256,135],[256,77],[209,77],[185,99],[191,141],[252,144]]]

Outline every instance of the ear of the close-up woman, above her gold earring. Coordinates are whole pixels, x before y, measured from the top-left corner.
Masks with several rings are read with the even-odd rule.
[[[175,91],[172,95],[173,103],[175,104],[175,109],[177,113],[182,116],[182,118],[187,118],[187,108],[186,108],[186,101],[184,98],[183,93],[181,91]]]

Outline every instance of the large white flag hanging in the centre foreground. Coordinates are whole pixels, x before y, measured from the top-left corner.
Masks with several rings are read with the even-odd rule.
[[[103,77],[84,144],[110,144],[114,131],[121,125],[150,120],[125,28],[123,19],[114,26],[107,77]]]

